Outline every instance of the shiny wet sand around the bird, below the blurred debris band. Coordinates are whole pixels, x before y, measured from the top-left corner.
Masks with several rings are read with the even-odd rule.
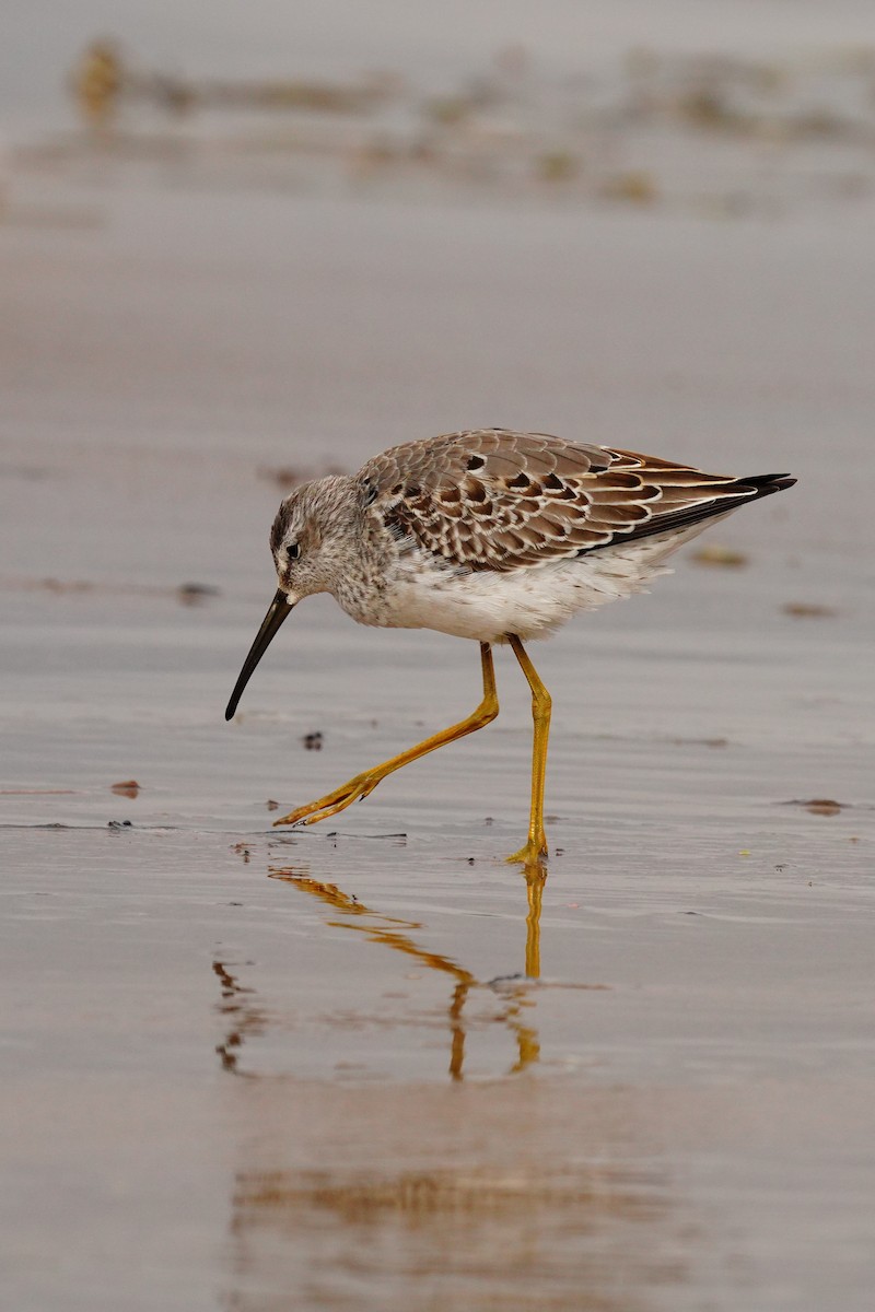
[[[871,205],[17,185],[55,218],[0,226],[9,1305],[867,1308]],[[275,471],[479,424],[800,479],[701,539],[741,565],[534,648],[543,888],[504,653],[496,724],[306,833],[269,803],[458,719],[476,649],[312,601],[222,719]]]

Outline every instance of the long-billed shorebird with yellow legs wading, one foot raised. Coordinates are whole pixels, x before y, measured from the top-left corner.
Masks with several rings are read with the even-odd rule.
[[[392,771],[489,724],[499,714],[492,648],[506,644],[529,682],[533,711],[529,836],[508,861],[544,867],[552,703],[523,644],[577,611],[644,590],[708,523],[795,482],[788,474],[706,474],[619,447],[485,428],[407,442],[358,474],[296,487],[270,529],[278,588],[226,719],[293,607],[323,592],[359,625],[478,642],[483,698],[458,724],[274,824],[327,820]]]

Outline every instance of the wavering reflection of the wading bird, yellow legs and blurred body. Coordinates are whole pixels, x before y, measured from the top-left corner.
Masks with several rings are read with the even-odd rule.
[[[672,1216],[664,1169],[649,1147],[645,1160],[630,1157],[634,1127],[617,1114],[614,1090],[601,1097],[543,1078],[533,1115],[534,1089],[516,1078],[463,1081],[466,1044],[483,1033],[481,1014],[466,1017],[478,994],[497,1001],[488,1019],[513,1036],[505,1073],[539,1060],[542,869],[526,871],[525,975],[488,981],[422,946],[422,924],[383,914],[306,866],[269,875],[312,899],[327,929],[358,933],[446,979],[450,1082],[350,1086],[252,1069],[247,1042],[282,1022],[239,967],[214,960],[226,1023],[216,1051],[224,1071],[245,1077],[228,1085],[241,1132],[224,1305],[261,1312],[270,1291],[285,1307],[294,1286],[319,1307],[361,1296],[400,1312],[417,1273],[442,1307],[474,1305],[488,1287],[496,1307],[518,1312],[645,1312],[653,1283],[683,1283],[662,1257]]]

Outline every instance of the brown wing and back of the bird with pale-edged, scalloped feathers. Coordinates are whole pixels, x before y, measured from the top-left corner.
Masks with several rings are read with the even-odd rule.
[[[499,571],[680,530],[762,495],[756,480],[505,429],[396,446],[358,478],[399,539]]]

